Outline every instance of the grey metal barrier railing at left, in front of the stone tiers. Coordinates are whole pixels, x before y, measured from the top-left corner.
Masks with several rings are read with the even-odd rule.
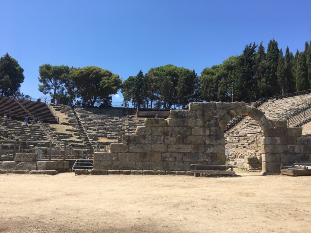
[[[110,146],[61,147],[50,141],[0,141],[0,160],[14,160],[16,153],[37,153],[39,159],[92,159],[96,151],[110,151]]]

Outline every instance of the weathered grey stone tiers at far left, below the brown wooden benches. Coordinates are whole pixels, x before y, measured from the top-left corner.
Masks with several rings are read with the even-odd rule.
[[[2,129],[6,134],[7,138],[18,139],[18,140],[49,140],[44,129],[42,129],[38,124],[33,122],[33,124],[28,124],[28,127],[22,126],[20,121],[9,119],[7,126],[4,126],[4,121],[0,120]]]

